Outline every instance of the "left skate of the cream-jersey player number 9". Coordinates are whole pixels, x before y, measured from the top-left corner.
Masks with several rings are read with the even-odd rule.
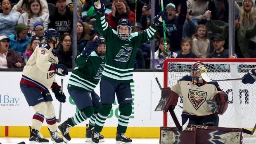
[[[30,137],[29,137],[30,144],[36,144],[36,142],[40,144],[49,144],[49,140],[45,139],[38,130],[32,129],[32,127],[29,127],[29,131],[30,131]]]

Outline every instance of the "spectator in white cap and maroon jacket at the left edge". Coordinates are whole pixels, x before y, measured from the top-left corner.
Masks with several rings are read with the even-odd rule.
[[[25,66],[21,56],[9,49],[9,41],[5,35],[0,36],[0,68],[23,68]]]

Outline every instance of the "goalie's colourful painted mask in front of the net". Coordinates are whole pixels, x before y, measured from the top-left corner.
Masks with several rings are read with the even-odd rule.
[[[197,61],[191,67],[191,76],[192,83],[197,84],[199,80],[203,79],[206,82],[210,82],[211,80],[207,76],[207,68],[204,66],[204,63]]]

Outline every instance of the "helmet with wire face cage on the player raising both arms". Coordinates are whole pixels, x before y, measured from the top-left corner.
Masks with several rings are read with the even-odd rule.
[[[129,28],[129,33],[119,33],[121,26],[126,26]],[[129,38],[130,34],[132,33],[132,28],[131,28],[131,22],[130,19],[125,19],[122,18],[118,21],[117,23],[117,33],[118,33],[118,37],[121,40],[126,40]]]

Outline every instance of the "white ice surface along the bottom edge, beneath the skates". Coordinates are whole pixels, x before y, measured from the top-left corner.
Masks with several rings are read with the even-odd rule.
[[[256,137],[255,138],[244,138],[244,144],[256,144]],[[29,144],[28,138],[0,138],[1,144],[18,144],[19,142],[25,142]],[[52,141],[49,142],[52,144]],[[64,144],[64,143],[63,143]],[[71,139],[69,144],[90,144],[85,142],[85,139]],[[105,139],[105,142],[100,144],[116,144],[115,139]],[[133,139],[132,144],[159,144],[159,139]]]

